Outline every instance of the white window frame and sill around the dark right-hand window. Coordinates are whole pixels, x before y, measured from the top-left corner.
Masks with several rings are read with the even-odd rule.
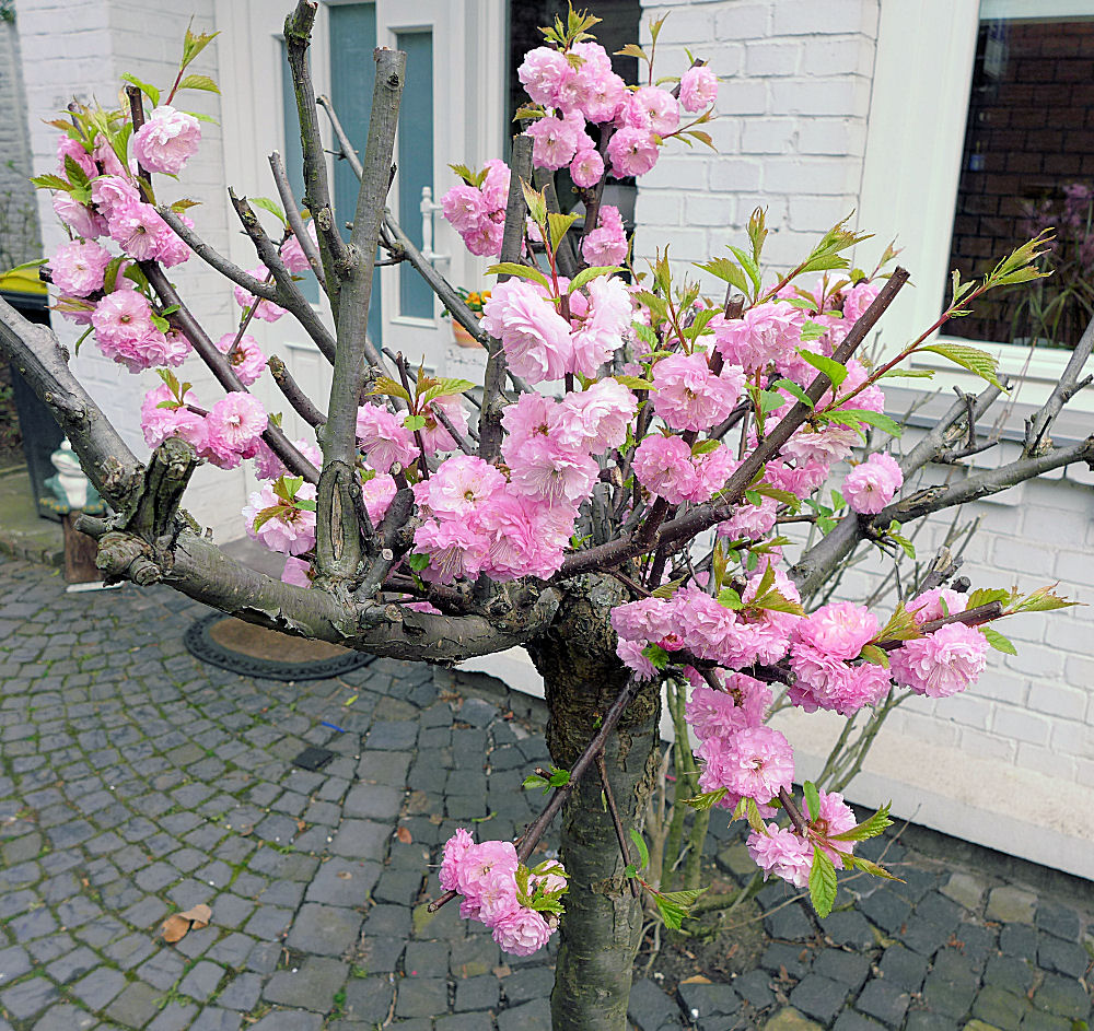
[[[984,7],[998,17],[1094,14],[1091,0],[984,0]],[[887,351],[929,327],[945,302],[980,8],[980,0],[881,0],[859,206],[859,225],[875,236],[863,245],[859,263],[895,238],[903,248],[897,260],[911,272],[911,283],[883,320]],[[939,336],[947,339],[944,329]],[[1048,396],[1070,358],[1055,349],[981,347],[1020,380],[1021,400],[1029,403]],[[951,374],[952,364],[940,355],[913,362],[941,370],[933,380],[938,386],[976,386],[976,377]],[[1084,391],[1072,407],[1094,411],[1094,398]]]

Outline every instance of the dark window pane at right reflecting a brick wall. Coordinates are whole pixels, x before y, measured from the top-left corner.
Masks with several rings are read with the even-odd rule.
[[[1094,315],[1094,3],[984,0],[979,15],[947,268],[971,278],[1052,229],[1052,276],[946,331],[1071,348]]]

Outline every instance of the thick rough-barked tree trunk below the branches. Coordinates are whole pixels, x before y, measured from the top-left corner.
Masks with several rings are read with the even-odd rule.
[[[608,611],[628,597],[614,579],[572,585],[550,632],[528,645],[544,677],[551,758],[571,766],[596,734],[598,717],[626,687]],[[657,760],[661,692],[644,688],[605,746],[608,783],[625,828],[640,828]],[[638,860],[631,846],[631,858]],[[641,901],[624,877],[612,817],[595,768],[562,810],[562,864],[570,874],[560,929],[551,1015],[555,1031],[626,1031],[631,969],[642,929]]]

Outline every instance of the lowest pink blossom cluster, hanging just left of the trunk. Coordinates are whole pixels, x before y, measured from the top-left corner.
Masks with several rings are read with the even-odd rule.
[[[489,927],[505,952],[531,956],[558,926],[566,871],[554,860],[528,870],[512,842],[476,844],[459,828],[444,844],[440,882],[445,891],[463,895],[459,915],[464,919]]]

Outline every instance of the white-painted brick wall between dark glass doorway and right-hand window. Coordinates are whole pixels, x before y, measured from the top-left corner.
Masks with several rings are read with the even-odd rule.
[[[753,209],[768,209],[766,255],[785,267],[856,207],[862,177],[876,0],[680,0],[667,14],[659,75],[687,68],[685,47],[722,78],[718,153],[671,143],[639,186],[640,257],[672,245],[698,261],[740,244]]]

